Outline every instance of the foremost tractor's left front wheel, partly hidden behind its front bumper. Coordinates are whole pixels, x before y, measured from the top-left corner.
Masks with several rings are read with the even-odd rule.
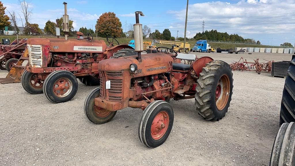
[[[84,113],[89,121],[96,124],[104,124],[111,121],[117,111],[109,111],[96,107],[94,99],[100,96],[100,87],[93,89],[84,102]]]

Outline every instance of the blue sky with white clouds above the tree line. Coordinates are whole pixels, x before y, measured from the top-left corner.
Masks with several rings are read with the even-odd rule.
[[[168,28],[172,36],[184,37],[186,0],[66,2],[75,30],[87,27],[95,31],[99,16],[104,12],[114,12],[125,32],[135,23],[134,12],[142,11],[145,16],[140,17],[140,23],[150,27],[152,32],[155,29],[163,32]],[[2,3],[6,10],[17,13],[18,26],[22,26],[24,17],[18,0],[2,0]],[[45,22],[55,22],[55,19],[64,14],[63,1],[58,0],[31,0],[30,9],[32,16],[29,22],[39,24],[42,29]],[[218,32],[235,33],[243,38],[254,38],[265,45],[295,43],[295,0],[189,0],[186,36],[192,38],[202,32],[203,21],[204,31],[216,29]]]

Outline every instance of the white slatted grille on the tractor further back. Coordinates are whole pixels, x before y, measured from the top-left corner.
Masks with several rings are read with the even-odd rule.
[[[28,44],[31,67],[42,67],[42,46]]]

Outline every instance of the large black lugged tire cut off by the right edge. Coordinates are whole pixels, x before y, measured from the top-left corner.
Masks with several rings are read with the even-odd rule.
[[[295,56],[290,61],[290,66],[285,80],[281,102],[280,125],[295,122]]]

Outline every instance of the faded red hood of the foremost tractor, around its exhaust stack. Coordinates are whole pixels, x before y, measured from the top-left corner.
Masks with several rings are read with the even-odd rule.
[[[142,60],[137,61],[137,56],[105,59],[99,62],[98,69],[101,71],[130,70],[131,64],[137,65],[135,72],[130,71],[132,78],[161,74],[172,71],[173,58],[165,53],[142,54]]]

